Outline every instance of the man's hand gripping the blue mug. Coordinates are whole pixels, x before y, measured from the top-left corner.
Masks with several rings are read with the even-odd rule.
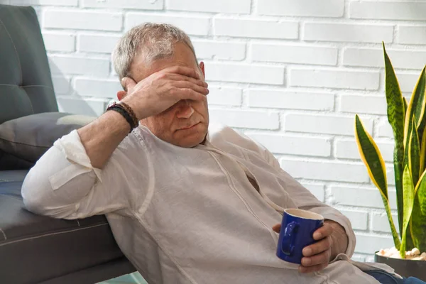
[[[338,227],[337,227],[338,226]],[[339,228],[335,230],[336,228]],[[273,231],[280,233],[281,224],[275,224],[272,227]],[[346,233],[340,224],[331,220],[325,220],[324,226],[320,227],[314,232],[313,238],[317,241],[315,244],[306,246],[303,250],[302,263],[299,266],[301,273],[309,273],[315,271],[321,271],[326,268],[334,257],[339,253],[344,253],[347,247],[347,236],[346,242],[343,241],[344,248],[340,244],[334,244],[335,240],[342,239],[342,231],[344,236]]]

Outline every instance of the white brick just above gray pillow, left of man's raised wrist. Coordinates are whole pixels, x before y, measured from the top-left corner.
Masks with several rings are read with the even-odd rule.
[[[59,111],[87,116],[100,116],[107,109],[102,99],[81,99],[76,97],[57,97]]]

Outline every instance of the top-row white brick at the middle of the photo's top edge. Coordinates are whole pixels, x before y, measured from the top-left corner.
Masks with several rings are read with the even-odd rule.
[[[166,9],[210,13],[250,13],[251,0],[167,0]]]

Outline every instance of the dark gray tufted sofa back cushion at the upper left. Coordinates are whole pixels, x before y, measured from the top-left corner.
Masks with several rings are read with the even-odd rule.
[[[0,4],[0,123],[46,111],[58,105],[37,15]]]

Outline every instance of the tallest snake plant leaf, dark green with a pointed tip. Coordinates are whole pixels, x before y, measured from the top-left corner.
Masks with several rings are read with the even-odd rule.
[[[395,148],[393,149],[393,169],[395,171],[396,204],[398,207],[398,224],[400,234],[403,228],[403,163],[404,163],[404,119],[406,108],[404,108],[403,95],[400,90],[398,79],[393,70],[391,60],[386,53],[385,44],[383,53],[385,57],[385,93],[388,103],[388,121],[392,126]]]

